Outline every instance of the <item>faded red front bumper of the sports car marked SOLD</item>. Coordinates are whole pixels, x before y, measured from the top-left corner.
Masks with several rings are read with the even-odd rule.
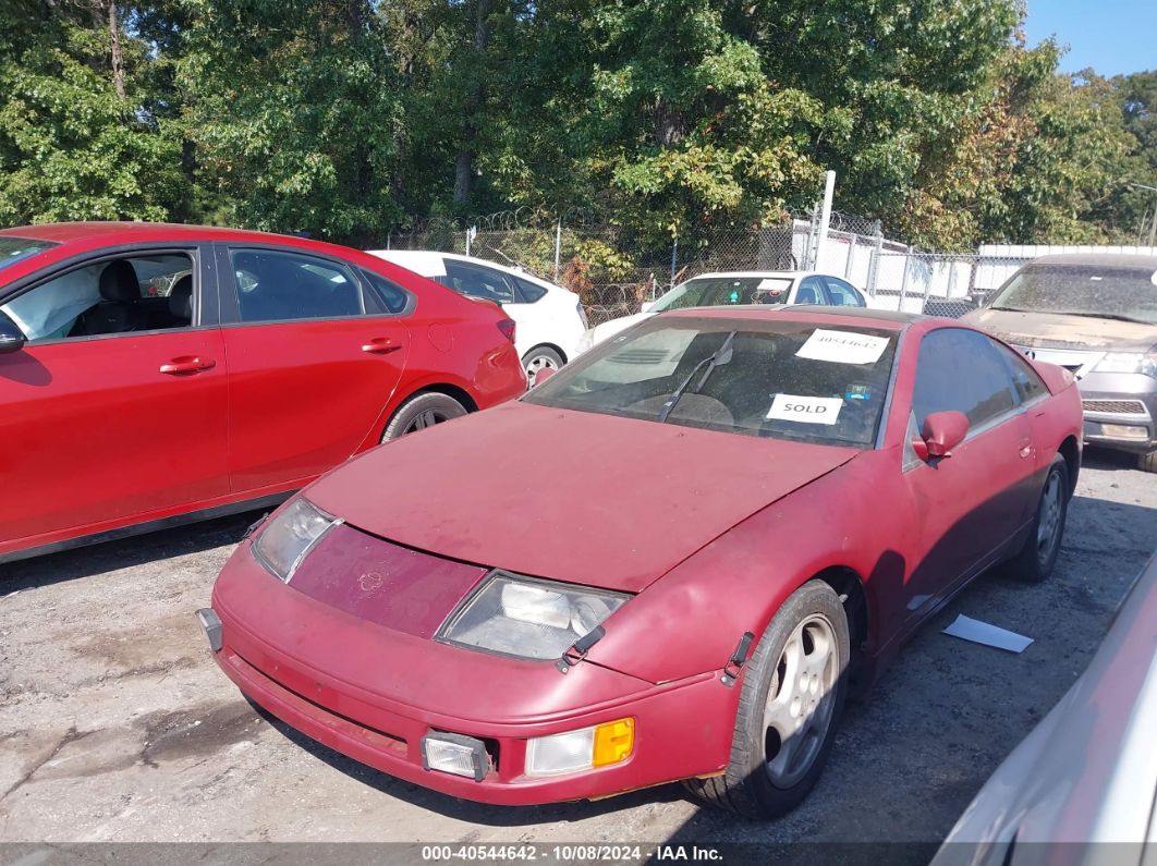
[[[607,797],[718,772],[730,753],[739,689],[717,672],[656,686],[589,661],[560,674],[552,663],[417,638],[281,584],[252,561],[248,542],[222,571],[213,610],[215,659],[246,697],[355,761],[454,797],[499,805]],[[622,763],[525,775],[528,739],[624,717],[636,733]],[[423,769],[421,741],[432,732],[482,740],[492,760],[484,778]]]

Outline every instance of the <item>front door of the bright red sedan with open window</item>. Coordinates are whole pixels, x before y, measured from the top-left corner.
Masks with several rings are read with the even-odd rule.
[[[0,550],[207,506],[228,493],[226,356],[208,247],[94,254],[0,313]]]

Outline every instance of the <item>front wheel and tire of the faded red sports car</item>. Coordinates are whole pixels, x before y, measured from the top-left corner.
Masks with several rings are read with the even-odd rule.
[[[826,644],[823,657],[817,656],[821,644]],[[747,661],[727,770],[722,776],[688,779],[692,793],[753,819],[776,817],[798,806],[832,747],[847,694],[849,647],[847,614],[832,587],[809,580],[796,590]],[[816,658],[805,661],[810,656]],[[810,675],[804,671],[809,684],[801,688],[799,678],[791,674],[805,664],[818,667]],[[780,688],[781,680],[788,687],[786,680],[793,679],[790,691]],[[790,740],[779,731],[793,725],[798,731],[801,724],[803,738],[784,749]]]

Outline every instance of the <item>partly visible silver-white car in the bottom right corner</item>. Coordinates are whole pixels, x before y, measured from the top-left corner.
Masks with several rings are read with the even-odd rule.
[[[1152,861],[1155,623],[1157,556],[1088,669],[980,789],[933,866]]]

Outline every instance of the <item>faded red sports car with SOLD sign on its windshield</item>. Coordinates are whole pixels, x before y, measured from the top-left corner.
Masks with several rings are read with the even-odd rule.
[[[769,816],[971,578],[1056,560],[1061,368],[874,310],[666,313],[271,516],[199,612],[252,701],[496,804],[673,779]]]

